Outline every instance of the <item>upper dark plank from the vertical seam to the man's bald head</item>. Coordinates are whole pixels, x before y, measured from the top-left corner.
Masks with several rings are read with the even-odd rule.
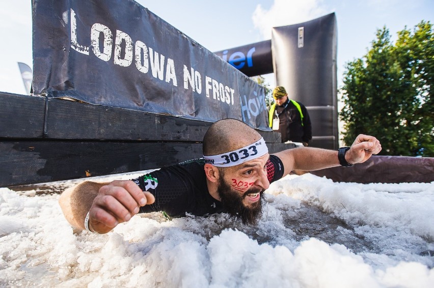
[[[169,115],[49,99],[46,137],[200,142],[211,124]]]

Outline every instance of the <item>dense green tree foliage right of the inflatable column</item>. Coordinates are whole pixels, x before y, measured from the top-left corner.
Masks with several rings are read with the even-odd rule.
[[[430,22],[413,31],[378,29],[372,47],[344,71],[343,141],[358,134],[380,140],[383,155],[434,156],[434,34]]]

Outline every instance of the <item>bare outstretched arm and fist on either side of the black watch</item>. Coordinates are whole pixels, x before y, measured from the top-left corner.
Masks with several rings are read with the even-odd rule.
[[[361,134],[345,152],[344,158],[348,164],[363,163],[379,151],[381,151],[381,144],[375,137]],[[292,170],[314,171],[340,165],[338,151],[334,150],[300,147],[275,154],[283,162],[284,176]]]

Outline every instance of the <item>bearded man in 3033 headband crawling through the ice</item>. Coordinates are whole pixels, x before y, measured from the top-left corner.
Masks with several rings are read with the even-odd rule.
[[[139,212],[207,216],[229,213],[245,224],[261,215],[264,190],[293,170],[313,171],[365,162],[379,141],[359,135],[338,151],[299,147],[269,154],[261,135],[236,119],[214,122],[203,139],[201,159],[153,171],[137,179],[85,181],[62,193],[65,218],[76,228],[107,233]]]

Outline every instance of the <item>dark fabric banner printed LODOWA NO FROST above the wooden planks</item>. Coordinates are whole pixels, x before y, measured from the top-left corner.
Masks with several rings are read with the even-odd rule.
[[[264,89],[132,0],[34,0],[33,91],[269,131]]]

